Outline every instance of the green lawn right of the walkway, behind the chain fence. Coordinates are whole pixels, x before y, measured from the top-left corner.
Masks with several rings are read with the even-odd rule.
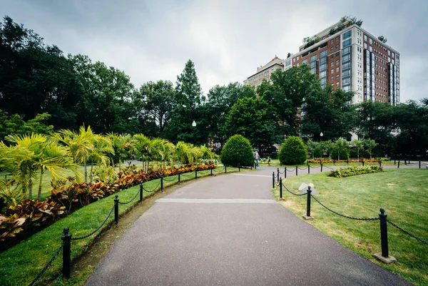
[[[327,173],[299,175],[285,179],[285,186],[297,192],[300,183],[313,183],[320,191],[315,197],[328,208],[359,218],[378,218],[384,208],[388,220],[409,233],[428,241],[428,170],[384,169],[384,173],[330,178]],[[388,185],[393,184],[393,185]],[[277,198],[279,188],[272,189]],[[283,190],[282,204],[300,218],[306,214],[306,196],[295,196]],[[397,273],[416,285],[428,285],[428,245],[405,235],[388,224],[389,255],[397,262],[384,265],[372,257],[381,252],[379,221],[342,218],[312,200],[307,221],[326,235]]]

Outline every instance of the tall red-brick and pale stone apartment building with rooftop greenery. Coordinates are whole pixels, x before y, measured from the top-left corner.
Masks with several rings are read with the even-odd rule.
[[[337,31],[339,25],[346,28]],[[330,34],[332,31],[335,33]],[[307,39],[307,44],[283,64],[287,70],[303,63],[317,73],[322,86],[332,84],[354,91],[352,103],[399,103],[399,53],[349,21],[338,22]]]

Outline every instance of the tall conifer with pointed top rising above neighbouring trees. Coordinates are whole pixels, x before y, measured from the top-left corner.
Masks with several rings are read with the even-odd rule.
[[[204,98],[196,76],[195,64],[188,60],[183,73],[177,76],[173,116],[168,126],[171,141],[185,141],[195,144],[208,141],[208,122],[203,117]],[[192,126],[193,121],[197,124]]]

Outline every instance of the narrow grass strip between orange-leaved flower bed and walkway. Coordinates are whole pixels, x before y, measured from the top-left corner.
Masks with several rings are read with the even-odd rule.
[[[238,168],[228,167],[228,173],[238,172]],[[213,175],[218,173],[224,173],[224,167],[218,166],[213,169]],[[198,178],[210,176],[210,170],[198,171]],[[169,180],[174,178],[174,180]],[[178,176],[165,177],[167,180],[163,181],[163,188],[178,183]],[[181,174],[180,182],[195,179],[195,172]],[[161,190],[159,185],[161,179],[150,180],[144,183],[146,190],[153,190],[158,185],[156,192]],[[61,236],[63,235],[63,228],[68,227],[72,238],[81,237],[91,233],[93,230],[98,228],[101,223],[106,219],[111,208],[113,208],[113,199],[115,195],[118,195],[119,202],[128,202],[136,196],[139,192],[139,185],[133,186],[126,190],[121,190],[118,193],[113,193],[102,200],[98,200],[94,203],[86,205],[83,208],[76,210],[71,215],[65,218],[61,218],[53,225],[48,228],[41,230],[40,232],[32,235],[24,242],[11,247],[0,253],[0,285],[29,285],[39,272],[49,262],[51,257],[54,255],[58,247],[61,246]],[[155,192],[153,192],[155,193]],[[153,193],[143,191],[143,197],[148,198]],[[139,203],[139,195],[137,198],[127,205],[119,205],[119,217],[124,213],[128,212],[133,206]],[[88,250],[93,240],[100,235],[103,230],[109,228],[114,222],[114,213],[110,215],[103,228],[94,235],[83,240],[71,241],[71,260],[80,257],[83,253]],[[119,224],[121,220],[119,218]],[[73,262],[72,262],[73,263]],[[51,282],[54,277],[62,275],[62,250],[59,255],[52,262],[41,276],[41,278],[34,285],[47,285],[47,282]]]

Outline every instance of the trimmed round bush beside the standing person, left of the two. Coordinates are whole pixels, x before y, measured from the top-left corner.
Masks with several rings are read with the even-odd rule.
[[[233,167],[253,165],[254,155],[250,141],[242,135],[230,137],[221,151],[220,160]]]

